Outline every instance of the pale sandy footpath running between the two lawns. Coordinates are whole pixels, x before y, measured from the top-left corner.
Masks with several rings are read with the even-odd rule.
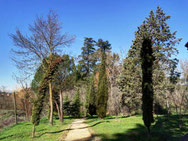
[[[88,125],[84,119],[76,119],[65,138],[65,141],[88,141],[91,138]]]

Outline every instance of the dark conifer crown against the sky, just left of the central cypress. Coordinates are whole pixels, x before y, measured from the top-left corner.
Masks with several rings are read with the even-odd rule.
[[[81,66],[81,75],[83,78],[90,75],[94,70],[96,64],[95,53],[95,41],[92,38],[85,38],[84,47],[82,47],[82,53],[79,56],[81,60],[79,65]]]

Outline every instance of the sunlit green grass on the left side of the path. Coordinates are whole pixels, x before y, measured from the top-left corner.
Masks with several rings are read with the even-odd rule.
[[[73,119],[65,118],[63,123],[59,120],[54,120],[54,126],[50,126],[48,120],[43,118],[36,126],[36,137],[31,137],[32,124],[31,122],[20,122],[3,129],[0,132],[0,140],[2,141],[55,141],[66,132],[66,129]]]

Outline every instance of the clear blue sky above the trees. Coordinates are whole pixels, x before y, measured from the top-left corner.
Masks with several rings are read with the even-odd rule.
[[[84,37],[109,40],[113,52],[126,53],[134,31],[158,5],[171,15],[168,22],[171,30],[178,31],[177,37],[183,38],[177,46],[178,59],[188,59],[184,48],[188,41],[187,0],[0,0],[0,86],[16,87],[12,78],[16,68],[10,59],[10,49],[14,46],[8,35],[15,33],[16,28],[28,34],[28,25],[37,15],[45,16],[50,9],[58,13],[63,23],[62,33],[77,37],[72,46],[65,49],[74,56],[81,52]]]

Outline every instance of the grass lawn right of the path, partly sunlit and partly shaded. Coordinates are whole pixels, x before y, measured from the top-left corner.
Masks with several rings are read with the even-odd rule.
[[[188,133],[188,116],[183,117],[183,126],[178,128],[178,116],[160,116],[152,125],[151,141],[177,141]],[[90,118],[86,123],[103,141],[148,141],[141,116]]]

